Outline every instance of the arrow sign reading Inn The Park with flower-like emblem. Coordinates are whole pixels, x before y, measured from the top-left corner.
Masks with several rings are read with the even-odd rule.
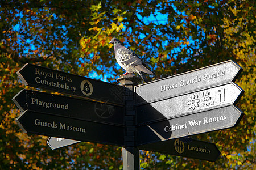
[[[243,92],[242,88],[232,82],[191,94],[140,105],[136,108],[137,124],[166,120],[171,117],[236,104]]]

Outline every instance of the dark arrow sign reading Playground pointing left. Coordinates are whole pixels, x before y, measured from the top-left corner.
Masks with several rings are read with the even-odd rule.
[[[21,111],[30,110],[79,120],[124,125],[123,107],[109,104],[108,101],[86,101],[73,97],[52,95],[38,91],[21,90],[13,98]]]

